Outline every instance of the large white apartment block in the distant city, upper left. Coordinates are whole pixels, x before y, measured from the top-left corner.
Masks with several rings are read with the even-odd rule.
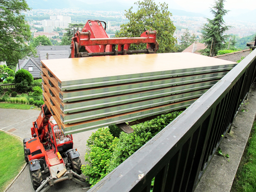
[[[53,15],[50,19],[45,19],[42,22],[43,27],[67,27],[68,23],[71,23],[71,17],[63,15]]]

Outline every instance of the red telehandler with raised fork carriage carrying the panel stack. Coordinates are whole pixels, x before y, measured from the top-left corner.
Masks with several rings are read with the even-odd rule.
[[[71,58],[155,53],[158,49],[156,31],[145,31],[139,38],[108,38],[102,26],[104,21],[88,20],[81,32],[73,33]],[[131,44],[147,44],[143,50],[129,50]],[[117,47],[117,49],[116,49]],[[80,154],[73,148],[72,135],[65,135],[52,118],[47,105],[33,122],[31,138],[23,140],[24,156],[36,192],[46,192],[55,183],[73,180],[87,188],[81,176]],[[44,179],[43,179],[44,177]]]

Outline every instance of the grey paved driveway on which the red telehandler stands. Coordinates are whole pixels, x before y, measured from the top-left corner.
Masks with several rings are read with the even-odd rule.
[[[32,122],[36,120],[40,111],[37,110],[18,110],[18,109],[1,109],[0,108],[0,129],[11,132],[21,138],[31,137],[30,128]],[[86,141],[93,131],[86,131],[79,134],[73,134],[74,148],[77,148],[81,155],[81,162],[84,164],[84,154],[86,150]],[[35,192],[32,187],[29,166],[27,165],[20,176],[15,180],[7,192]],[[48,192],[85,192],[81,185],[73,181],[66,180],[57,183]]]

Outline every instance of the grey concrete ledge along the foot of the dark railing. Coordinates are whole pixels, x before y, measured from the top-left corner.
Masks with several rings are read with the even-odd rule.
[[[215,154],[195,192],[229,192],[231,190],[255,114],[256,84],[251,88],[247,100],[234,119],[230,134],[227,134],[227,138],[220,145],[222,152],[229,154],[230,161]]]

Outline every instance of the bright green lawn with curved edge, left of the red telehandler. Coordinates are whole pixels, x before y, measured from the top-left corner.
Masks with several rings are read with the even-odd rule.
[[[0,157],[0,192],[3,192],[25,163],[22,141],[0,131]]]

